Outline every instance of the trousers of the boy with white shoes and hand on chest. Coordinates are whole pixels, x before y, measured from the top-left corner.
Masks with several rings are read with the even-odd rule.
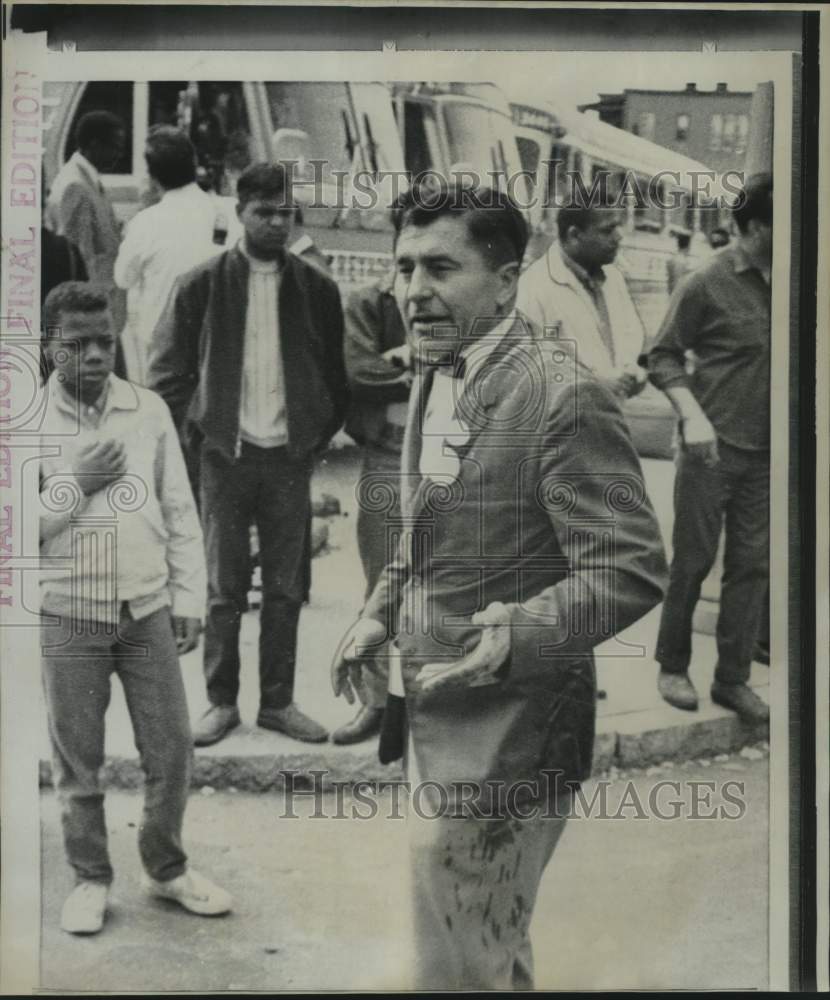
[[[63,617],[55,626],[44,623],[41,646],[54,781],[76,877],[106,884],[113,878],[99,771],[115,673],[145,775],[141,860],[152,878],[177,878],[187,866],[181,832],[192,738],[170,609],[136,621],[122,604],[117,633],[102,622]]]

